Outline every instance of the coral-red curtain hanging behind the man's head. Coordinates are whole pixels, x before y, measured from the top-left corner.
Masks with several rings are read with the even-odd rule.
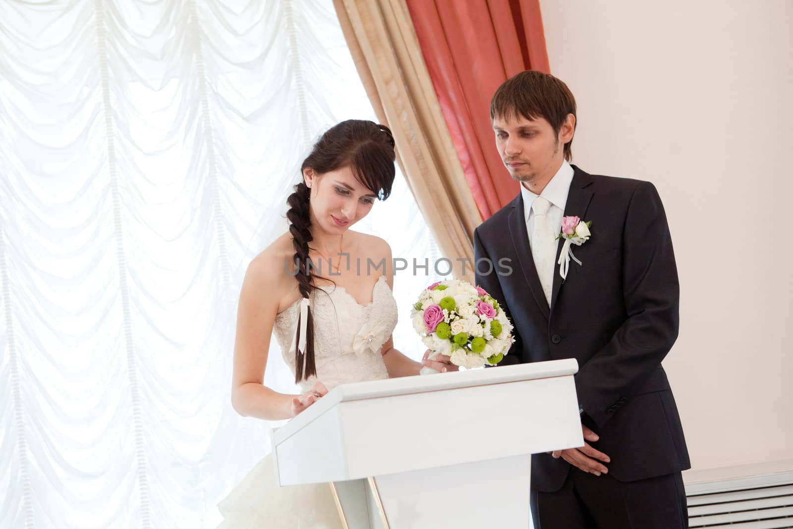
[[[406,0],[482,219],[518,194],[496,151],[490,99],[523,70],[550,72],[539,0]]]

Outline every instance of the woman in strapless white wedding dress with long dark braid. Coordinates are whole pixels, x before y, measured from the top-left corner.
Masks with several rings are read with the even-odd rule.
[[[350,120],[328,129],[303,162],[287,201],[289,232],[253,259],[239,296],[232,405],[240,415],[290,419],[339,384],[415,375],[422,365],[456,369],[448,358],[425,354],[422,364],[393,347],[391,248],[350,229],[389,197],[394,159],[388,127]],[[300,395],[262,384],[272,332]],[[342,527],[327,484],[279,487],[270,456],[218,507],[223,529]]]

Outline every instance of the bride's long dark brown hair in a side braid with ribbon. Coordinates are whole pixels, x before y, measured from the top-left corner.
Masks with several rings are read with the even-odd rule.
[[[351,167],[358,182],[371,190],[380,200],[385,200],[391,194],[396,173],[394,160],[394,139],[391,129],[385,125],[377,125],[373,121],[347,120],[329,128],[320,140],[314,144],[311,154],[301,166],[301,175],[306,169],[324,174],[335,171],[341,167]],[[298,289],[301,297],[308,299],[313,289],[311,268],[309,264],[308,243],[313,240],[311,234],[310,201],[311,189],[302,180],[294,186],[294,193],[289,195],[286,203],[289,211],[286,218],[289,220],[289,232],[292,234],[292,244],[295,250],[293,259],[297,270]],[[301,326],[305,325],[305,351],[300,351],[299,338]],[[314,323],[312,309],[308,307],[308,317],[302,321],[298,317],[295,343],[295,382],[316,376],[316,362],[314,360]]]

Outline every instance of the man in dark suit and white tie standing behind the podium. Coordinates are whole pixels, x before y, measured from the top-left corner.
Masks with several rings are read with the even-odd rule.
[[[677,338],[679,286],[661,198],[649,182],[587,174],[568,163],[573,94],[559,79],[523,71],[502,84],[490,117],[520,194],[474,232],[477,261],[511,259],[509,275],[477,284],[515,324],[502,365],[576,358],[584,447],[537,454],[531,464],[536,529],[688,527],[680,471],[688,450],[661,367]],[[559,260],[563,217],[591,221]],[[485,268],[485,266],[481,266]]]

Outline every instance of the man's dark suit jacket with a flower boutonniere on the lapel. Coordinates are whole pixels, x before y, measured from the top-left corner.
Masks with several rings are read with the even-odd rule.
[[[582,264],[571,262],[564,282],[555,265],[550,309],[531,257],[523,197],[474,231],[477,261],[490,259],[495,268],[477,270],[477,284],[515,325],[516,342],[500,365],[576,358],[582,421],[600,435],[590,444],[611,458],[609,473],[619,481],[688,469],[683,427],[661,367],[677,338],[680,298],[661,198],[649,182],[573,169],[565,216],[591,220],[592,236],[573,246]],[[557,259],[561,247],[559,241]],[[498,264],[504,258],[511,274]],[[570,468],[562,458],[534,455],[532,487],[554,492]]]

